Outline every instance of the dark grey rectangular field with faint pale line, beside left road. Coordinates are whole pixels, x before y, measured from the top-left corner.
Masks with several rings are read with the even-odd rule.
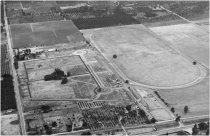
[[[84,39],[72,21],[10,25],[13,48],[59,43],[80,43]]]

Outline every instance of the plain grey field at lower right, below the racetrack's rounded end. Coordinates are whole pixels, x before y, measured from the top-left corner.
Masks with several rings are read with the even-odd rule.
[[[209,114],[209,79],[187,88],[159,90],[158,93],[182,117]],[[184,113],[185,105],[189,107],[187,114]]]

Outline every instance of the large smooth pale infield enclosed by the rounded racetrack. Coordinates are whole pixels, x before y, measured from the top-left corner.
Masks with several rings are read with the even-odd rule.
[[[143,25],[83,30],[102,54],[130,80],[155,86],[175,87],[194,82],[200,69],[177,53]],[[113,54],[117,55],[113,59]]]

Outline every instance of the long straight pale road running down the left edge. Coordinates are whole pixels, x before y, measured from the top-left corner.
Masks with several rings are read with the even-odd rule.
[[[4,2],[4,4],[5,4],[5,2]],[[12,68],[13,77],[14,77],[13,82],[14,82],[14,90],[15,90],[15,97],[16,97],[16,103],[17,103],[17,109],[18,109],[18,115],[19,115],[19,121],[20,121],[21,134],[26,135],[26,124],[25,124],[25,120],[24,120],[21,96],[20,96],[20,92],[19,92],[19,88],[18,88],[17,73],[13,66],[14,54],[13,54],[13,49],[12,49],[11,32],[10,32],[8,20],[6,17],[5,5],[4,5],[4,20],[5,20],[5,27],[6,27],[7,38],[8,38],[8,49],[9,49],[9,54],[10,54],[10,59],[11,59],[10,62],[11,62],[11,66],[12,66],[11,68]]]

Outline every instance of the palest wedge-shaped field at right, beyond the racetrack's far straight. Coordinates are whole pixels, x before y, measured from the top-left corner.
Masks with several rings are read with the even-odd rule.
[[[152,27],[150,29],[170,42],[173,48],[209,68],[209,33],[207,29],[201,26],[199,28],[193,24]]]

